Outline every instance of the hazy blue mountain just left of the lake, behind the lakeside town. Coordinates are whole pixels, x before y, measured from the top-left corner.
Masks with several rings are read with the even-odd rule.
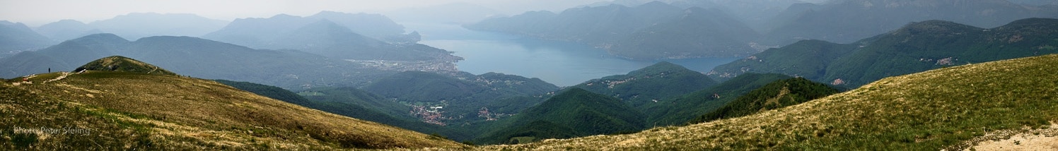
[[[404,26],[382,15],[321,12],[309,17],[236,19],[203,37],[255,49],[298,50],[335,59],[441,62],[460,59],[451,52],[416,43],[417,33],[403,33]]]

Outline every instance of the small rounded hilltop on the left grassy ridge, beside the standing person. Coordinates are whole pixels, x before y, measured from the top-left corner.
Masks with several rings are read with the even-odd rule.
[[[157,74],[157,75],[177,75],[176,73],[169,72],[165,69],[123,56],[110,56],[96,59],[94,61],[88,62],[85,65],[80,65],[79,68],[74,70],[74,72],[83,72],[83,71],[110,71],[110,72]]]

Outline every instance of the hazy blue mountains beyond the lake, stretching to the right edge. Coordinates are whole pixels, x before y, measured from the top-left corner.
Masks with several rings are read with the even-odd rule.
[[[490,18],[464,26],[576,41],[633,59],[674,59],[748,56],[806,39],[850,43],[913,21],[992,27],[1034,17],[1058,18],[1058,5],[1005,0],[617,0],[558,14],[527,12]]]

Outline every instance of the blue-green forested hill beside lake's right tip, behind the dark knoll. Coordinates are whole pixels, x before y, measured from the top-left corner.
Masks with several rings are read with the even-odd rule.
[[[841,56],[856,50],[854,44],[839,44],[822,40],[801,40],[778,49],[768,49],[744,59],[717,65],[707,73],[713,79],[725,81],[743,73],[778,73],[807,79],[822,79],[826,67]]]

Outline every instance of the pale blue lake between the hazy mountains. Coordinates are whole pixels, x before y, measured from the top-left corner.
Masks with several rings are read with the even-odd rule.
[[[402,23],[422,35],[419,43],[455,52],[463,57],[460,71],[488,72],[541,78],[559,87],[604,76],[626,74],[659,61],[669,61],[701,73],[740,58],[631,60],[576,42],[542,40],[492,32],[471,31],[458,24]]]

